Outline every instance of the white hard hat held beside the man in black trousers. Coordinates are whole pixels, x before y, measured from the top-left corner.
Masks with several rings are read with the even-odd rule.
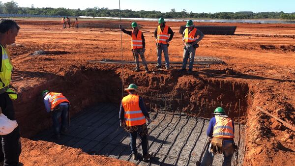
[[[3,113],[0,114],[0,135],[10,134],[18,126],[16,120],[10,120]]]

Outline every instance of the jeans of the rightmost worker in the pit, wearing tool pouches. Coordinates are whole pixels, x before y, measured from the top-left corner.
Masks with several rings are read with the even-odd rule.
[[[208,150],[205,153],[205,156],[203,158],[201,166],[209,166],[209,165],[212,165],[212,163],[213,163],[213,158],[214,158],[215,154],[213,154],[209,151],[210,145],[208,146]],[[224,155],[222,166],[231,166],[232,165],[232,157],[235,153],[234,141],[233,140],[224,140],[222,142],[221,151],[223,152],[223,155]]]

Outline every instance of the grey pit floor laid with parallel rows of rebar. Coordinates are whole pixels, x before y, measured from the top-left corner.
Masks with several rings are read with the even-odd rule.
[[[203,157],[207,141],[208,119],[193,118],[180,114],[150,112],[152,122],[149,128],[149,153],[155,157],[149,162],[134,161],[131,156],[129,135],[119,127],[119,107],[114,104],[99,104],[74,117],[69,132],[55,140],[51,130],[35,136],[34,140],[56,142],[60,145],[80,148],[91,155],[105,155],[119,160],[134,162],[138,165],[176,165],[195,166]],[[244,136],[243,126],[235,125],[235,141]],[[137,139],[138,151],[140,139]],[[244,156],[244,140],[240,138],[238,158],[233,157],[233,165],[241,164]],[[216,155],[213,165],[219,166],[222,156]]]

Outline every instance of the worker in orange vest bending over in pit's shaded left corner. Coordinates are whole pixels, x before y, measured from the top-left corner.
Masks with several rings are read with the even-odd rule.
[[[49,92],[44,90],[42,92],[43,102],[47,112],[52,113],[52,122],[54,136],[56,139],[60,138],[60,133],[65,134],[68,130],[68,111],[70,102],[62,95],[62,93]],[[61,116],[61,130],[59,127],[59,117]]]

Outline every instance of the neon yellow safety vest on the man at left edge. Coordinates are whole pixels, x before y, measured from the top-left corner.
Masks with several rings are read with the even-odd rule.
[[[9,61],[8,53],[6,52],[5,48],[1,46],[2,50],[2,59],[1,59],[1,69],[0,69],[0,89],[4,86],[8,86],[11,80],[11,71],[12,71],[12,64]]]

